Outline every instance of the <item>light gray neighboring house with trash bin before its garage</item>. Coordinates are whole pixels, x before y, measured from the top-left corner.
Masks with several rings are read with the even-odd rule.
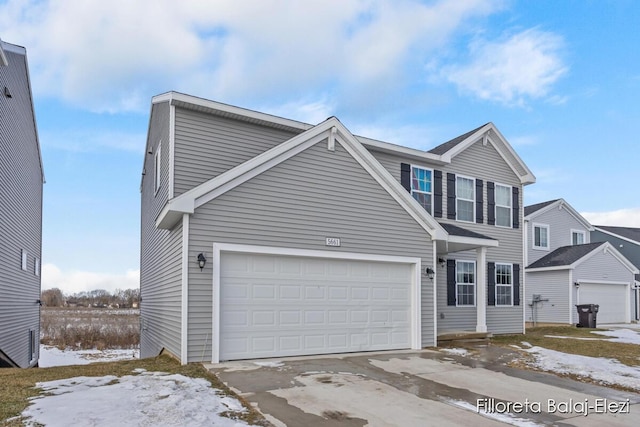
[[[636,319],[637,268],[563,199],[524,208],[527,321],[574,324],[576,305],[598,304],[598,323]]]

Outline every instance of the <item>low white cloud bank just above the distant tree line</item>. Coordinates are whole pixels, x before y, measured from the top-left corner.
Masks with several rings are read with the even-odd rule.
[[[63,271],[50,263],[42,266],[42,289],[59,288],[67,295],[95,289],[104,289],[113,293],[116,289],[135,289],[139,286],[140,270],[109,274],[77,270]]]

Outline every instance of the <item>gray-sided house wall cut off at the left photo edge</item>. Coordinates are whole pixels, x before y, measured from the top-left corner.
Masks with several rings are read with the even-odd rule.
[[[0,41],[0,366],[38,364],[44,174],[23,47]]]

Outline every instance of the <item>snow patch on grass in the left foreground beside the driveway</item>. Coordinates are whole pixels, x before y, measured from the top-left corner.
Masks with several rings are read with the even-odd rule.
[[[47,393],[32,399],[26,425],[246,426],[221,416],[243,412],[202,378],[136,369],[135,375],[75,377],[37,383]]]

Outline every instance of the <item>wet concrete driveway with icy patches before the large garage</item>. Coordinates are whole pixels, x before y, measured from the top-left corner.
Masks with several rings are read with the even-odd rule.
[[[275,426],[638,425],[640,394],[505,367],[512,357],[482,346],[206,367]]]

